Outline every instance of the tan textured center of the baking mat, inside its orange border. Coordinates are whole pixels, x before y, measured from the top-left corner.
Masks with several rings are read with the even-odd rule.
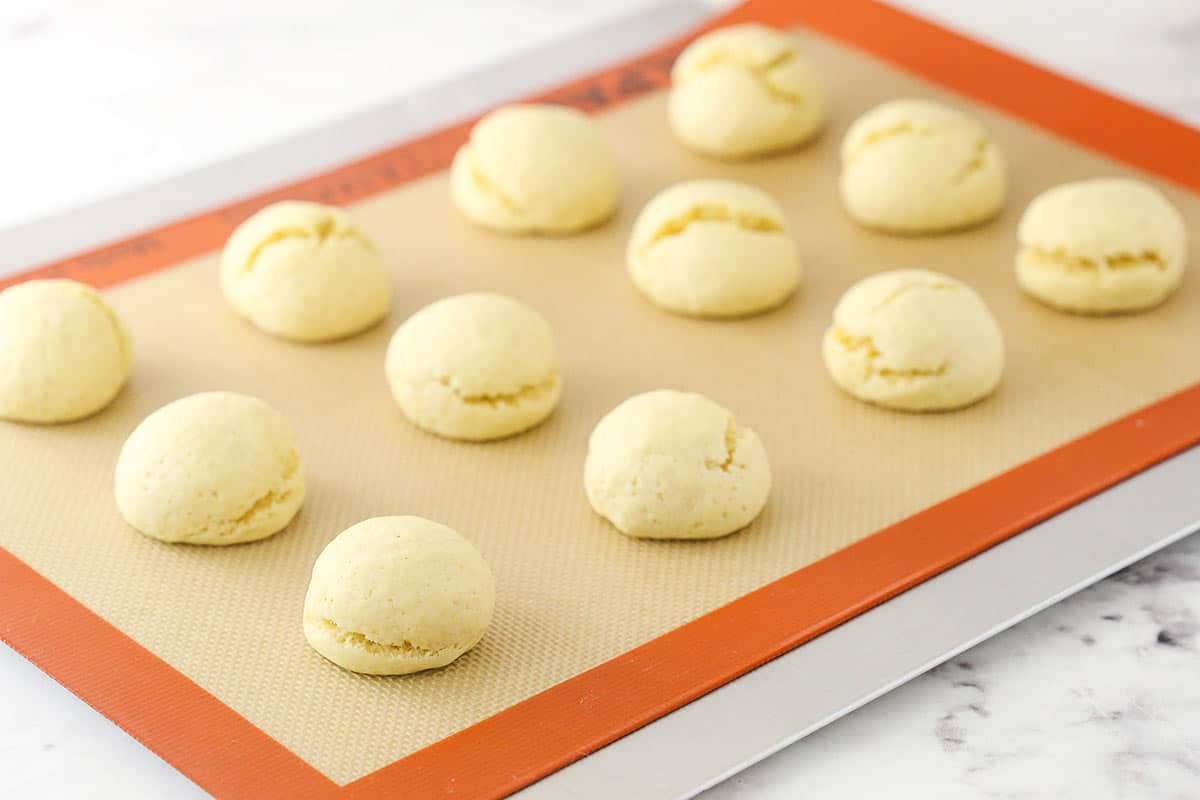
[[[838,203],[841,134],[877,102],[943,92],[803,38],[833,97],[817,143],[720,164],[674,143],[661,94],[606,112],[600,125],[625,185],[617,218],[589,234],[528,240],[472,229],[451,209],[442,175],[355,206],[396,287],[390,319],[358,338],[304,347],[258,333],[226,308],[215,254],[109,290],[134,337],[132,381],[84,422],[0,425],[0,545],[347,782],[1200,380],[1192,353],[1200,281],[1188,279],[1152,313],[1114,319],[1057,314],[1015,288],[1014,228],[1025,204],[1061,181],[1127,170],[977,108],[1012,164],[1004,215],[930,239],[864,231]],[[630,285],[623,251],[634,216],[658,190],[701,176],[757,184],[787,209],[806,277],[780,311],[740,321],[682,319]],[[1200,239],[1200,199],[1165,188]],[[1200,264],[1195,246],[1190,261]],[[910,266],[970,282],[998,317],[1008,368],[986,402],[952,415],[901,415],[859,404],[826,378],[820,339],[840,293],[870,272]],[[418,432],[383,380],[398,321],[474,289],[517,296],[551,320],[565,383],[546,425],[486,445]],[[625,397],[664,386],[704,392],[761,434],[775,486],[749,529],[703,543],[640,542],[588,507],[581,471],[592,426]],[[151,410],[212,389],[260,396],[292,420],[306,505],[288,530],[254,545],[144,539],[113,503],[118,450]],[[326,541],[390,513],[438,519],[476,542],[497,575],[497,615],[482,643],[446,669],[358,676],[305,644],[304,591]]]

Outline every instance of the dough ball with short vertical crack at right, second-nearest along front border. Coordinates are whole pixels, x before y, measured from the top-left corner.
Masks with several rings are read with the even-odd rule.
[[[714,539],[767,504],[770,468],[758,435],[703,395],[659,390],[608,411],[583,467],[592,507],[641,539]]]

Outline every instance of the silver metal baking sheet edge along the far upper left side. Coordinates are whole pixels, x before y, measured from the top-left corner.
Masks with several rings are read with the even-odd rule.
[[[220,163],[0,230],[0,276],[222,206],[526,97],[661,44],[713,10],[665,0],[514,59]]]

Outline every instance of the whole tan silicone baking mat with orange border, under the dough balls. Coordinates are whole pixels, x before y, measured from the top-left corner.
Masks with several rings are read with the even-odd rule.
[[[500,795],[1200,439],[1200,392],[1187,389],[1200,379],[1190,357],[1198,282],[1152,313],[1086,319],[1022,297],[1012,277],[1020,210],[1061,181],[1148,176],[1200,229],[1200,198],[1187,191],[1200,188],[1200,164],[1183,158],[1200,151],[1200,136],[869,2],[836,13],[751,2],[721,22],[733,19],[803,26],[797,36],[833,98],[824,136],[750,163],[688,154],[665,121],[679,43],[551,92],[598,112],[624,176],[618,216],[582,236],[502,237],[461,221],[438,170],[464,124],[25,276],[109,287],[137,359],[130,386],[90,420],[0,427],[5,640],[217,794]],[[845,218],[840,137],[899,96],[942,98],[983,119],[1012,164],[1000,219],[900,239]],[[631,288],[623,251],[634,216],[658,190],[701,176],[756,184],[787,210],[806,277],[778,312],[683,319]],[[384,325],[302,347],[226,308],[216,249],[282,197],[352,207],[392,271]],[[1200,264],[1195,245],[1189,259]],[[967,281],[996,313],[1008,369],[992,398],[913,416],[829,384],[820,337],[836,297],[865,275],[906,266]],[[415,431],[382,377],[400,320],[476,289],[517,296],[550,319],[565,385],[546,425],[487,445]],[[581,470],[592,426],[661,386],[707,393],[762,437],[775,488],[746,530],[641,542],[588,507]],[[305,507],[254,545],[150,541],[114,507],[116,452],[148,413],[211,389],[260,396],[292,420]],[[359,676],[300,633],[317,553],[385,513],[450,524],[496,571],[496,621],[446,669]]]

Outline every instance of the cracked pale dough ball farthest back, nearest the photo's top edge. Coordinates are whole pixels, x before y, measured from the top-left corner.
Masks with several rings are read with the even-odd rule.
[[[803,144],[826,119],[826,96],[796,41],[764,25],[701,36],[671,70],[667,114],[690,150],[748,158]]]

